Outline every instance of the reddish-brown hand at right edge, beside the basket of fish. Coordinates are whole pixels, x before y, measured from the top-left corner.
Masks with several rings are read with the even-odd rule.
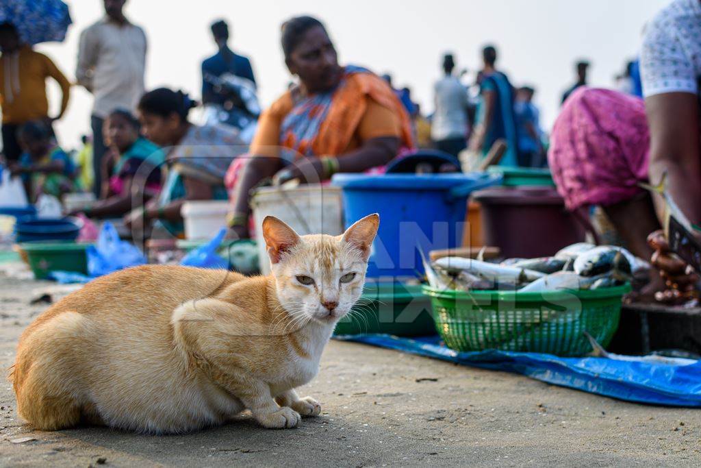
[[[669,251],[664,232],[655,231],[648,236],[648,244],[655,249],[651,263],[660,270],[667,290],[655,293],[655,300],[669,304],[698,297],[699,275],[690,265]]]

